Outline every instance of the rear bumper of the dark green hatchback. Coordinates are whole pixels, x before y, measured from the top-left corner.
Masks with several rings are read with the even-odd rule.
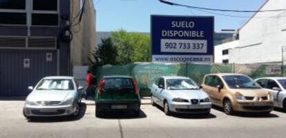
[[[104,101],[95,103],[97,111],[140,110],[140,101]]]

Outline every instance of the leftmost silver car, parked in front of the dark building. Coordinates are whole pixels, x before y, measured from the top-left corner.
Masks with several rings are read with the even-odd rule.
[[[79,103],[82,100],[82,86],[73,77],[45,77],[37,86],[28,87],[30,95],[23,106],[23,115],[31,117],[49,117],[79,115]]]

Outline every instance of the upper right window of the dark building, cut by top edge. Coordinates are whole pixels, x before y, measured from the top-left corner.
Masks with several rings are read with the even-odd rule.
[[[33,0],[32,10],[57,11],[57,0]]]

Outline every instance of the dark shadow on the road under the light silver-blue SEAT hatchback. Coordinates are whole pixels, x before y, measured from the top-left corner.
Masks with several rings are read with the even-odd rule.
[[[164,112],[164,108],[161,106],[155,105],[156,108]],[[213,119],[216,118],[216,115],[209,114],[209,115],[203,115],[203,114],[190,114],[190,113],[173,113],[172,117],[180,118],[180,119]]]

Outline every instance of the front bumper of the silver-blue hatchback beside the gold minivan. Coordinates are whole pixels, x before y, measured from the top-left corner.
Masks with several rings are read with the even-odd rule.
[[[196,105],[191,103],[172,102],[169,105],[171,112],[182,112],[191,114],[209,113],[211,111],[211,102],[198,103]]]

